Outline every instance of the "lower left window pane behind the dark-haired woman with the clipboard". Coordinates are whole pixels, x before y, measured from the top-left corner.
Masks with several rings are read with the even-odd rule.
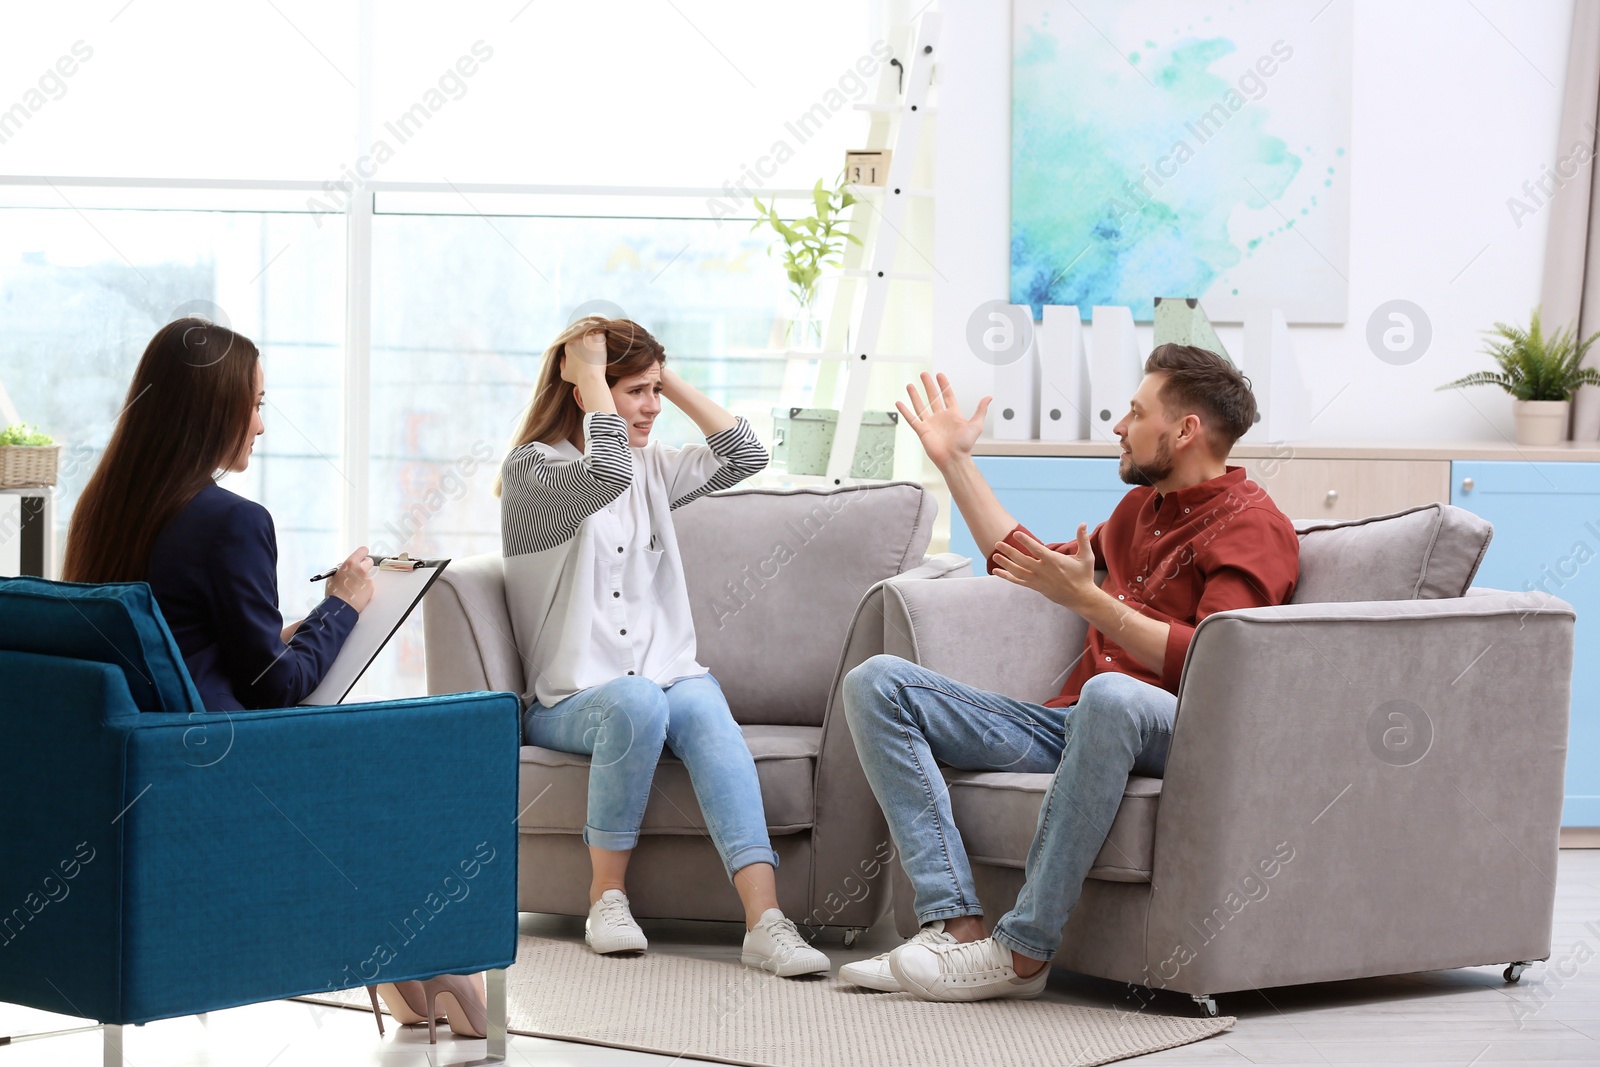
[[[267,432],[222,485],[272,512],[294,617],[306,577],[342,555],[344,234],[278,211],[0,210],[0,382],[62,445],[58,560],[150,334],[198,314],[256,341]]]

